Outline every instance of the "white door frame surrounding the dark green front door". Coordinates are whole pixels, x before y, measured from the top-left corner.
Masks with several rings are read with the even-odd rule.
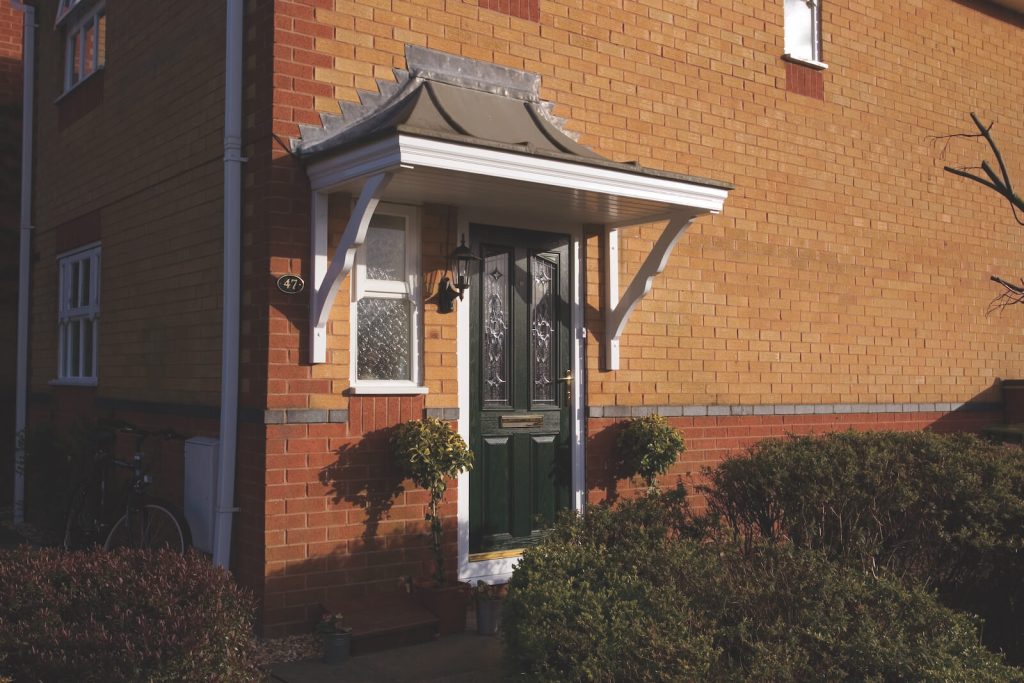
[[[569,297],[569,319],[572,327],[572,424],[573,434],[571,443],[572,459],[572,505],[573,509],[582,511],[584,509],[586,492],[586,453],[587,442],[585,433],[585,408],[583,403],[583,387],[586,386],[584,373],[584,358],[586,348],[584,344],[586,338],[583,336],[584,326],[584,292],[583,292],[583,270],[586,264],[581,262],[583,252],[583,227],[578,224],[546,223],[545,225],[531,225],[528,222],[509,222],[509,217],[505,213],[489,211],[465,211],[459,212],[459,230],[457,240],[463,238],[469,242],[470,224],[495,225],[502,228],[520,228],[529,230],[541,230],[549,232],[560,232],[569,238],[569,253],[572,259],[573,279],[571,283]],[[543,229],[542,229],[543,228]],[[456,347],[458,350],[457,372],[459,374],[459,434],[469,441],[469,349],[470,330],[469,311],[473,307],[474,298],[477,296],[475,288],[467,290],[466,299],[458,304],[456,309],[458,331],[456,336]],[[512,570],[519,562],[521,556],[502,558],[497,560],[482,560],[478,562],[469,561],[469,473],[463,472],[459,475],[459,500],[457,505],[459,517],[459,580],[475,584],[483,581],[488,584],[504,583],[512,577]]]

